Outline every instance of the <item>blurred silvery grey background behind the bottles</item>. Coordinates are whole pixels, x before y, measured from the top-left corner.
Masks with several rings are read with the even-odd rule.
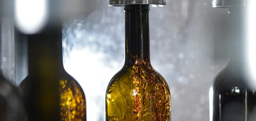
[[[8,2],[11,0],[2,1],[12,6]],[[63,0],[63,3],[66,3],[64,68],[84,90],[87,121],[104,121],[106,88],[124,63],[123,7],[109,7],[108,0]],[[211,0],[166,0],[166,3],[164,7],[151,7],[149,12],[152,66],[169,84],[172,120],[207,121],[209,87],[228,62],[224,34],[227,9],[212,8]],[[23,20],[26,18],[27,23],[35,14],[32,9],[24,10]],[[3,13],[1,68],[6,78],[18,85],[27,76],[26,45],[20,42],[25,40],[14,31],[14,17]]]

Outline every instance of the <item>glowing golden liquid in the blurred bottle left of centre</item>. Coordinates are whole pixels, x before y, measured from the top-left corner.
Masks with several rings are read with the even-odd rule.
[[[27,76],[21,83],[20,87],[24,90],[26,98],[28,92],[31,91],[27,83],[30,79]],[[60,105],[61,105],[61,121],[86,121],[86,103],[84,92],[79,83],[73,79],[68,73],[63,74],[63,77],[59,80],[59,94],[60,94]],[[26,107],[29,106],[28,102]]]

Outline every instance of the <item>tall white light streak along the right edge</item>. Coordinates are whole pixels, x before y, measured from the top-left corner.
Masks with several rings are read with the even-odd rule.
[[[256,0],[248,0],[246,15],[247,67],[251,86],[256,89]]]

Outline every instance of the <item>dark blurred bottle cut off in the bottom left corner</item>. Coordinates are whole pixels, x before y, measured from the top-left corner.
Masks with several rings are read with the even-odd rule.
[[[0,29],[0,58],[2,58],[2,35]],[[1,65],[2,63],[0,64],[0,121],[26,121],[22,92],[3,76]]]

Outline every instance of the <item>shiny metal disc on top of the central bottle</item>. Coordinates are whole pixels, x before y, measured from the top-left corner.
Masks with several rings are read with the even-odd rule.
[[[149,4],[150,7],[163,7],[166,5],[166,0],[108,0],[108,6],[123,7],[132,4]]]

